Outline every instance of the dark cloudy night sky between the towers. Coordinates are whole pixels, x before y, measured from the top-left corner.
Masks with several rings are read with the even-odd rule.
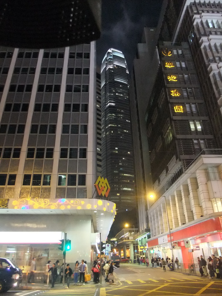
[[[109,48],[121,50],[131,71],[144,27],[156,27],[162,0],[102,0],[102,34],[96,41],[97,70]]]

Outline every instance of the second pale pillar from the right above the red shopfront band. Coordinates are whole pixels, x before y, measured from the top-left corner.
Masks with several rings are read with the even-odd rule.
[[[200,215],[202,215],[199,198],[197,194],[197,189],[198,189],[197,178],[189,178],[187,181],[188,181],[189,192],[190,192],[191,209],[193,211],[194,220],[196,220],[200,218]]]

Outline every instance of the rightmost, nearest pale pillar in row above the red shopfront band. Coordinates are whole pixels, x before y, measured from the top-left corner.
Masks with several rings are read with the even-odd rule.
[[[197,170],[196,177],[201,201],[200,206],[202,206],[203,215],[209,215],[213,213],[213,205],[209,197],[209,192],[207,188],[207,176],[205,170]]]

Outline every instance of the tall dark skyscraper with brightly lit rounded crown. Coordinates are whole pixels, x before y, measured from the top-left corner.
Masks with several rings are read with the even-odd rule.
[[[102,176],[110,184],[109,198],[118,211],[136,206],[128,88],[125,57],[111,48],[101,67]]]

